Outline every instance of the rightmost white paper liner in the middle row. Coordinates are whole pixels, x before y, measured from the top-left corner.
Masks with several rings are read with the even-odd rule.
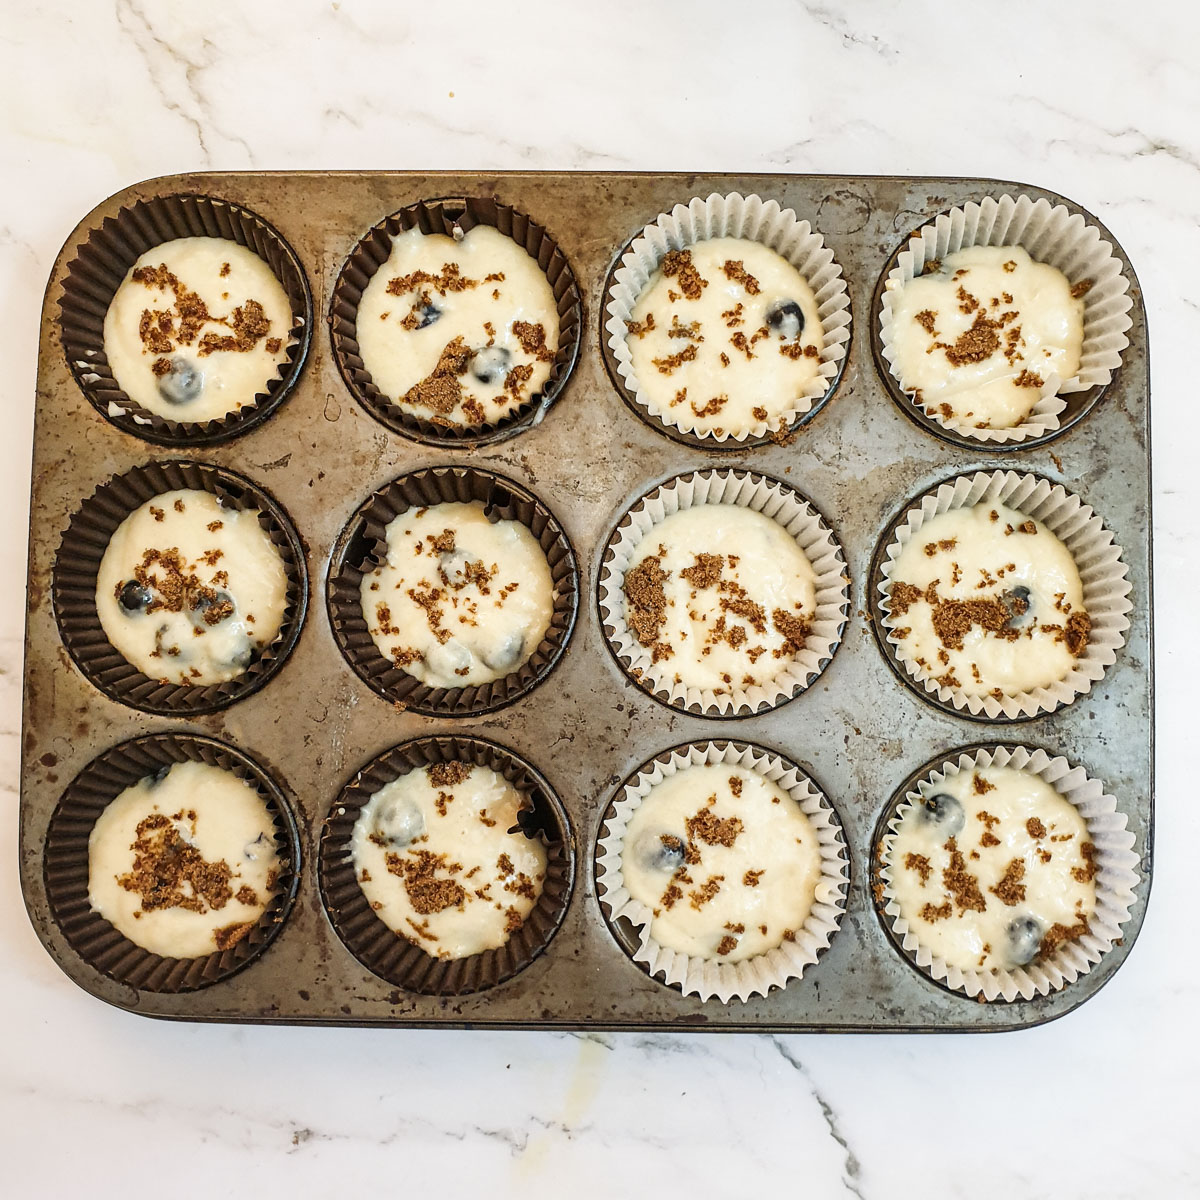
[[[968,696],[934,678],[919,678],[920,667],[905,656],[904,644],[888,630],[892,569],[900,552],[924,523],[952,509],[1006,504],[1040,521],[1070,552],[1084,586],[1084,607],[1092,620],[1087,648],[1066,678],[1049,688],[995,696]],[[880,539],[871,565],[868,595],[875,635],[892,668],[918,695],[950,713],[989,721],[1020,721],[1052,713],[1091,691],[1116,661],[1129,628],[1129,568],[1112,533],[1084,502],[1061,484],[1012,470],[959,475],[925,492],[893,520]]]

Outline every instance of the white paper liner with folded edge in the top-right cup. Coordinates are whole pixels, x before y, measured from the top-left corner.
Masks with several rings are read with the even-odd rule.
[[[1091,280],[1092,288],[1084,296],[1084,346],[1079,374],[1060,379],[1051,374],[1044,383],[1040,397],[1020,425],[1012,428],[979,430],[964,420],[947,420],[929,413],[916,400],[913,407],[946,428],[978,442],[1014,443],[1039,438],[1058,428],[1058,416],[1066,408],[1060,397],[1091,388],[1103,388],[1121,365],[1121,353],[1129,344],[1126,334],[1133,324],[1129,310],[1129,281],[1121,272],[1112,244],[1104,241],[1100,232],[1087,224],[1078,212],[1046,199],[1032,200],[1027,196],[998,199],[988,196],[978,203],[943,212],[908,239],[908,247],[896,257],[896,265],[888,274],[880,308],[880,341],[883,358],[896,383],[900,374],[892,348],[892,302],[910,280],[916,278],[934,259],[946,258],[970,246],[1021,246],[1038,263],[1057,268],[1069,283]],[[912,398],[912,397],[910,397]]]

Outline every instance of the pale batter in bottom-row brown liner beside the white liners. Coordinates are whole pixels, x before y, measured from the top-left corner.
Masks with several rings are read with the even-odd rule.
[[[410,770],[376,792],[354,823],[362,894],[389,929],[433,958],[497,949],[546,878],[546,847],[517,826],[522,808],[524,798],[487,767]]]

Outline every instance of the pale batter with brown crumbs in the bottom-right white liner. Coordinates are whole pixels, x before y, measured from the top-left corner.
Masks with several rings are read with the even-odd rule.
[[[1012,767],[952,774],[900,818],[889,890],[922,946],[1012,971],[1088,931],[1096,846],[1074,805]]]

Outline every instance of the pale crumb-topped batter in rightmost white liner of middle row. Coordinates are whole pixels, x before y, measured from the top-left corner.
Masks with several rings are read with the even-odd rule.
[[[918,679],[1012,696],[1066,678],[1087,648],[1091,619],[1070,552],[1003,504],[926,521],[890,576],[884,624]]]

